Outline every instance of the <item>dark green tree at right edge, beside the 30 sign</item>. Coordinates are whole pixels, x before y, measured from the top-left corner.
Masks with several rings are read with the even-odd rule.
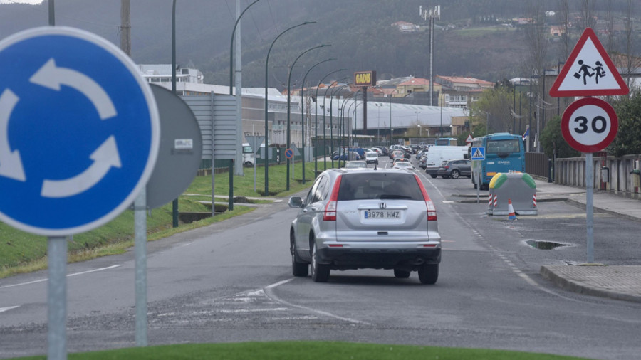
[[[623,96],[613,103],[619,118],[619,131],[608,149],[615,157],[641,154],[641,89],[630,91],[632,96]]]

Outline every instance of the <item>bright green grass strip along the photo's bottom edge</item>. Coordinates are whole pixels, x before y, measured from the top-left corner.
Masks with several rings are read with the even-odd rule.
[[[227,344],[180,344],[148,346],[109,351],[69,354],[70,360],[553,360],[582,359],[570,356],[535,354],[489,349],[456,349],[437,346],[360,344],[350,342],[244,342]],[[45,356],[19,358],[45,359]]]

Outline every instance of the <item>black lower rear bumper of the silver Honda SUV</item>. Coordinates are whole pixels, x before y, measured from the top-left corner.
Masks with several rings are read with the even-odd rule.
[[[368,246],[372,245],[372,246]],[[441,262],[441,245],[403,244],[390,248],[381,244],[325,243],[318,248],[320,263],[329,264],[332,270],[395,269],[418,270],[424,264]],[[338,247],[340,246],[340,247]]]

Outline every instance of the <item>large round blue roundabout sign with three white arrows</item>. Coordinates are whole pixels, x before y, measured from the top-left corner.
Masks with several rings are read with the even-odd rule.
[[[154,96],[112,43],[74,28],[0,41],[0,220],[39,235],[103,225],[149,179]]]

